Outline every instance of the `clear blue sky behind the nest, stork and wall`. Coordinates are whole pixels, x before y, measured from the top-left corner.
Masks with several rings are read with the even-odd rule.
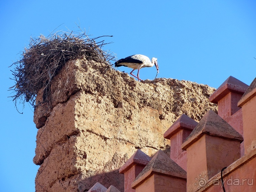
[[[118,59],[157,57],[158,77],[218,88],[232,75],[250,85],[256,76],[255,10],[253,0],[0,1],[0,191],[35,191],[33,109],[26,104],[21,115],[7,98],[14,85],[8,66],[19,60],[30,37],[48,36],[58,26],[76,31],[78,24],[92,37],[113,35],[104,38],[113,42],[104,50]],[[142,79],[155,75],[155,67],[140,70]]]

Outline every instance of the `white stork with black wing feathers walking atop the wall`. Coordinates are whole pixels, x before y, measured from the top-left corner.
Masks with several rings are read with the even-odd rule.
[[[159,71],[158,71],[157,58],[154,58],[154,57],[150,61],[150,59],[145,55],[132,55],[132,56],[126,57],[124,59],[119,59],[117,62],[115,62],[115,67],[125,66],[125,67],[133,68],[133,70],[130,72],[130,74],[132,76],[138,78],[138,81],[139,80],[143,81],[139,78],[139,69],[143,68],[143,67],[153,67],[154,65],[156,66],[157,74],[158,74]],[[135,69],[138,69],[137,76],[132,74],[132,72]]]

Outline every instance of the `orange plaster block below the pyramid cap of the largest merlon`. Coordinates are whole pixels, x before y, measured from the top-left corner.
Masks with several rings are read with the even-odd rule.
[[[209,180],[241,157],[240,142],[203,135],[187,149],[187,157],[187,191],[194,192],[200,178]]]

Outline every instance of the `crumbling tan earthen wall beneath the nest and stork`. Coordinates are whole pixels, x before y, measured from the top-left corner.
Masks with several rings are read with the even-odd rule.
[[[51,103],[37,94],[36,191],[88,191],[96,182],[124,191],[119,168],[137,149],[169,153],[163,133],[182,114],[199,121],[217,111],[209,102],[214,91],[177,79],[138,82],[85,59],[67,62],[52,80]]]

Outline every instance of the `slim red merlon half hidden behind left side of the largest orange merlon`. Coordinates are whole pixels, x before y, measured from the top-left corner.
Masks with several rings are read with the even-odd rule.
[[[164,133],[164,138],[170,139],[170,158],[184,170],[187,170],[187,152],[181,149],[181,145],[197,124],[195,120],[183,114]]]

